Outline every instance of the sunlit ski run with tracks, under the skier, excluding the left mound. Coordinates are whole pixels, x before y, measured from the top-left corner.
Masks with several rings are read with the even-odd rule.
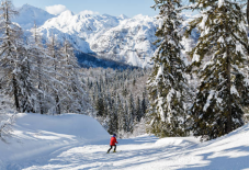
[[[246,136],[245,136],[246,137]],[[154,136],[120,139],[116,154],[106,154],[109,145],[84,145],[64,148],[48,157],[21,166],[24,170],[238,170],[249,169],[249,143],[241,147],[233,140],[196,144],[181,138],[166,144]],[[162,139],[167,141],[168,139]],[[102,143],[109,143],[102,141]],[[163,143],[163,141],[162,141]],[[228,146],[230,146],[230,149]]]

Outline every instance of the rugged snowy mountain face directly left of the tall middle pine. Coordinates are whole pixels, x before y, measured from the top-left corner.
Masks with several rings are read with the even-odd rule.
[[[91,49],[114,60],[146,67],[156,49],[152,43],[157,39],[157,25],[156,18],[144,15],[121,21],[120,25],[92,41]]]

